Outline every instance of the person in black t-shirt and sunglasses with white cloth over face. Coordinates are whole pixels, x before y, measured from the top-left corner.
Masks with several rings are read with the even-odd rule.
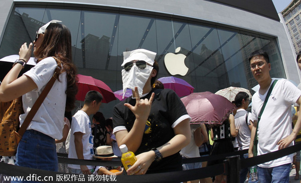
[[[156,53],[138,49],[123,56],[123,91],[130,88],[133,96],[114,107],[113,133],[119,146],[136,154],[127,174],[181,170],[179,151],[191,138],[185,106],[173,90],[152,88],[159,72]]]

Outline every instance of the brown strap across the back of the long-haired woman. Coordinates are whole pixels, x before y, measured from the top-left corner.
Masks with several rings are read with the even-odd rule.
[[[53,57],[53,58],[56,60],[57,63],[59,63],[56,57]],[[59,64],[58,64],[57,68],[60,68]],[[27,127],[29,126],[30,122],[33,120],[33,118],[36,115],[38,109],[42,105],[44,99],[48,95],[50,89],[52,88],[54,82],[56,81],[56,79],[58,77],[59,77],[59,73],[55,71],[54,74],[53,74],[53,76],[51,77],[50,81],[47,83],[47,85],[45,86],[44,90],[42,91],[42,93],[38,97],[37,101],[34,103],[32,109],[27,114],[27,116],[26,116],[23,124],[21,125],[21,127],[20,127],[20,129],[18,131],[19,135],[23,136],[23,134],[25,133]]]

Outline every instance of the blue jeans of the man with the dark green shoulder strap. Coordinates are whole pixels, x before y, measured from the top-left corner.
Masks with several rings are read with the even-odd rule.
[[[265,182],[289,182],[290,163],[275,166],[271,168],[257,167],[258,180],[260,183]]]

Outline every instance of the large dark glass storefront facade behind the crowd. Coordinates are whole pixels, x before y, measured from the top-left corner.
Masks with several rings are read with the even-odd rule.
[[[60,6],[15,5],[0,46],[0,58],[18,54],[20,46],[30,43],[36,31],[50,20],[61,20],[71,31],[73,60],[78,73],[105,82],[112,91],[122,89],[122,52],[138,48],[157,54],[158,78],[172,76],[164,64],[167,53],[186,55],[189,68],[185,76],[194,92],[216,91],[229,87],[251,90],[257,85],[247,57],[257,49],[267,51],[272,77],[285,78],[276,39],[242,32],[210,23],[135,14],[114,10]],[[183,67],[181,64],[175,67]],[[118,99],[103,104],[100,111],[111,117]],[[80,104],[79,104],[80,105]]]

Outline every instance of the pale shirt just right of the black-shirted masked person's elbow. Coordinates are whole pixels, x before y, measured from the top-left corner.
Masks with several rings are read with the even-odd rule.
[[[185,156],[187,158],[191,157],[200,157],[200,151],[199,147],[197,146],[195,140],[194,140],[194,132],[196,129],[200,128],[201,124],[191,124],[190,125],[190,130],[191,130],[191,140],[190,143],[183,147],[182,150],[180,151],[180,154],[182,156]]]

